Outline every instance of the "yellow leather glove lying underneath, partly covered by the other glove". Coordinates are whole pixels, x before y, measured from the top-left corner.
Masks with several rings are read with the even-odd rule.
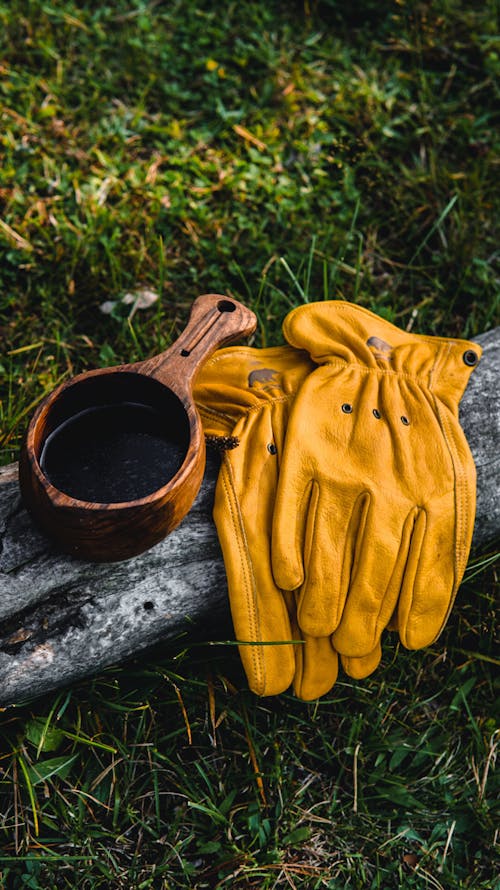
[[[308,640],[299,633],[295,596],[276,586],[270,548],[288,413],[315,367],[307,353],[288,346],[228,347],[203,365],[194,388],[205,434],[238,441],[222,451],[214,520],[249,686],[275,695],[293,683],[305,700],[331,689],[338,657],[328,637]],[[367,676],[379,656],[353,661],[354,675]]]

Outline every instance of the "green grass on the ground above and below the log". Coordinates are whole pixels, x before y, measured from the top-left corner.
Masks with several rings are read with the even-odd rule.
[[[499,324],[497,14],[0,2],[0,463],[58,381],[166,347],[205,291],[256,311],[255,345],[334,296]],[[391,638],[315,704],[179,644],[5,711],[2,890],[499,886],[494,548],[474,560],[438,643]]]

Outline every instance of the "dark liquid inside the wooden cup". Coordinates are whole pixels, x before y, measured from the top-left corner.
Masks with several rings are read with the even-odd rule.
[[[48,436],[40,464],[49,481],[73,498],[121,503],[157,491],[180,469],[186,446],[168,417],[120,403],[88,408]]]

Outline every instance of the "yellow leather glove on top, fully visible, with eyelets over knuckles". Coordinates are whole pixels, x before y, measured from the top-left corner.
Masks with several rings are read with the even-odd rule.
[[[345,656],[385,627],[419,649],[443,629],[467,563],[475,466],[458,404],[481,349],[409,334],[359,306],[312,303],[287,341],[320,367],[289,418],[273,524],[276,583],[298,623]]]

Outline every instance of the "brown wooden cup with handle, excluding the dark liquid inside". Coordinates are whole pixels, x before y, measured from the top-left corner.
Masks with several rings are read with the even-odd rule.
[[[135,556],[161,541],[190,509],[205,468],[205,442],[192,382],[218,347],[255,330],[253,312],[219,294],[193,304],[189,323],[166,352],[143,362],[79,374],[54,390],[36,411],[19,462],[24,501],[60,547],[95,562]],[[48,477],[43,450],[50,437],[76,417],[116,404],[141,406],[168,418],[183,459],[171,478],[133,500],[102,502],[60,490]]]

